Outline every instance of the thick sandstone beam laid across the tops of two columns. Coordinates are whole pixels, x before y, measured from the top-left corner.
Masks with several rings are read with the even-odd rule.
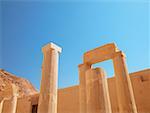
[[[114,43],[106,44],[86,52],[83,56],[83,62],[88,64],[95,64],[109,60],[113,57],[114,53],[118,51],[119,50]]]

